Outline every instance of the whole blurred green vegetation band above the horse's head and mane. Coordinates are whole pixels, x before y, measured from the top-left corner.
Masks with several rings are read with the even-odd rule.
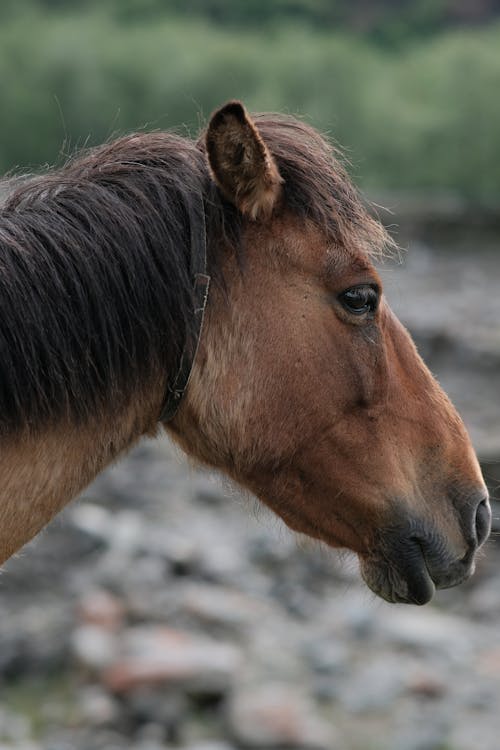
[[[471,28],[451,0],[2,0],[0,169],[137,128],[195,133],[238,97],[333,136],[365,187],[495,195],[496,5]]]

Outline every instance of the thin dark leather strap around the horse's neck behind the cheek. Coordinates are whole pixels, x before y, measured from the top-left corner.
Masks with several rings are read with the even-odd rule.
[[[193,281],[193,326],[188,333],[186,343],[182,350],[179,369],[176,375],[167,384],[165,400],[160,412],[160,422],[169,422],[177,413],[186,388],[189,384],[189,378],[193,370],[196,352],[200,343],[205,309],[208,300],[208,288],[210,285],[210,276],[207,276],[207,230],[205,223],[205,205],[203,197],[200,195],[196,205],[189,212],[190,231],[191,231],[191,259],[190,275]]]

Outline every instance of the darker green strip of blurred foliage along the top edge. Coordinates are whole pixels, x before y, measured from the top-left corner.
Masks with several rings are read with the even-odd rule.
[[[29,8],[56,12],[100,8],[124,23],[173,14],[234,28],[293,22],[348,31],[385,46],[450,26],[486,24],[500,16],[498,0],[2,0],[0,17]]]

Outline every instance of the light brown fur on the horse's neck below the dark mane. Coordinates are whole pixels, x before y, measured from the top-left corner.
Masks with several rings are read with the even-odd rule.
[[[158,430],[163,397],[158,379],[120,414],[23,430],[0,444],[0,563],[37,534],[94,477],[143,435]]]

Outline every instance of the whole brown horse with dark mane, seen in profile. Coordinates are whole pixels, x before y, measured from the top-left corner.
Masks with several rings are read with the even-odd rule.
[[[383,598],[471,574],[478,462],[383,296],[387,235],[315,131],[230,102],[198,143],[131,135],[7,188],[0,561],[168,420]]]

